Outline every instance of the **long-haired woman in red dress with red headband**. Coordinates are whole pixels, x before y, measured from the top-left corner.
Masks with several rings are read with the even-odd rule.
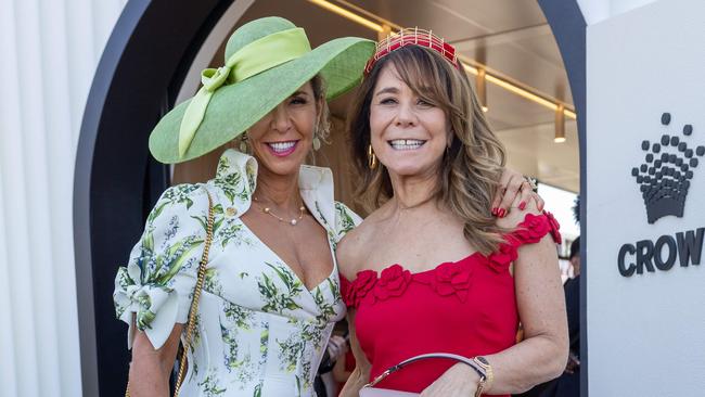
[[[422,360],[375,387],[507,396],[567,360],[557,223],[518,196],[493,209],[504,149],[453,52],[427,31],[387,39],[352,106],[360,192],[376,209],[337,249],[357,360],[344,396],[422,354],[474,366]]]

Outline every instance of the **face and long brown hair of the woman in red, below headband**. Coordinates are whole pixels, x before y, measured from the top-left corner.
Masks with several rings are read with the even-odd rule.
[[[411,182],[435,181],[436,197],[463,221],[467,242],[483,254],[497,249],[504,231],[490,208],[504,148],[463,71],[421,46],[389,52],[352,98],[347,129],[361,176],[357,194],[367,210],[405,188],[396,183],[405,182],[403,176],[412,176]],[[370,167],[370,144],[384,167]]]

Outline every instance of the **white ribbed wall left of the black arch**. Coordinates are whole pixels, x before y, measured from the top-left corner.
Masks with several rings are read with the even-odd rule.
[[[0,1],[0,395],[80,396],[74,163],[126,0]]]

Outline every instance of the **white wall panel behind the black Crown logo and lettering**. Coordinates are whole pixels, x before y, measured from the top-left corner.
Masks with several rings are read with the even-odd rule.
[[[705,145],[705,28],[700,0],[661,0],[587,30],[588,359],[590,396],[702,396],[705,256],[700,266],[621,277],[625,243],[705,227],[705,157],[684,217],[646,221],[630,170],[641,142]],[[670,112],[669,126],[661,115]],[[691,137],[681,133],[691,124]],[[669,149],[672,151],[672,149]],[[664,253],[666,254],[666,253]],[[633,258],[630,258],[633,261]]]

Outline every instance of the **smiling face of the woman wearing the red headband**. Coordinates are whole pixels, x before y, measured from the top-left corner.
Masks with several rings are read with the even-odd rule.
[[[390,63],[373,90],[370,132],[377,159],[398,176],[437,174],[450,140],[445,112],[407,86]]]

